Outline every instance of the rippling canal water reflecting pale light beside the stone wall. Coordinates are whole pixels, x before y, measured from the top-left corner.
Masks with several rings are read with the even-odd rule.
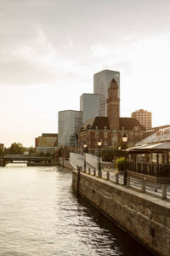
[[[0,255],[151,255],[71,189],[62,167],[0,167]]]

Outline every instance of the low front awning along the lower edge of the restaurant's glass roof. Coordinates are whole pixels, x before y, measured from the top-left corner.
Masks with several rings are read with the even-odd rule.
[[[128,154],[161,153],[168,150],[170,151],[170,143],[152,143],[127,148]]]

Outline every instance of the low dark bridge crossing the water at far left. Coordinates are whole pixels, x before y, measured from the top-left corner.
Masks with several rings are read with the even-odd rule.
[[[8,163],[26,163],[27,166],[52,166],[52,158],[45,156],[8,154],[0,159],[0,166],[6,166]]]

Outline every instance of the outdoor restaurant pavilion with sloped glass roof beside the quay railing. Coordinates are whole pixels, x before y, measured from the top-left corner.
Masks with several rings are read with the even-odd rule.
[[[170,183],[170,127],[127,148],[128,174],[156,183]]]

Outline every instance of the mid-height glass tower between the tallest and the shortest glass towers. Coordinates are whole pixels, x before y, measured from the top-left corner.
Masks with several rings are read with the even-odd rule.
[[[82,111],[82,123],[99,116],[99,95],[83,93],[80,97],[80,111]]]

